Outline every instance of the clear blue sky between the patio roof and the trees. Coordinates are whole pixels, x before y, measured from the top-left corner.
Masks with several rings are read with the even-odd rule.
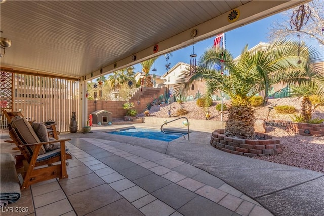
[[[259,44],[259,42],[269,42],[268,40],[268,32],[269,27],[271,24],[278,20],[283,22],[282,19],[284,17],[281,14],[276,14],[262,20],[250,23],[248,25],[242,26],[240,28],[231,30],[226,32],[226,48],[232,53],[233,57],[237,57],[240,55],[242,49],[246,44],[248,44],[249,48],[254,47],[255,45]],[[286,18],[287,19],[287,18]],[[287,20],[289,22],[289,20]],[[212,47],[214,44],[214,39],[216,35],[208,38],[206,40],[197,42],[194,46],[195,54],[197,54],[197,61],[199,60],[200,56],[204,53],[204,51]],[[318,46],[318,44],[314,44],[314,41],[310,41],[311,44],[314,46]],[[318,47],[319,48],[319,47]],[[190,63],[190,54],[192,54],[192,45],[187,46],[185,48],[179,49],[177,51],[173,51],[172,57],[169,58],[169,63],[171,63],[170,68],[172,68],[178,62],[185,62]],[[155,72],[156,75],[163,75],[167,72],[165,65],[167,61],[164,56],[160,56],[155,61],[155,68],[157,71]],[[141,65],[136,64],[134,65],[135,71],[141,71]],[[154,67],[154,65],[153,65]],[[153,67],[151,68],[150,73],[153,74],[152,71]]]

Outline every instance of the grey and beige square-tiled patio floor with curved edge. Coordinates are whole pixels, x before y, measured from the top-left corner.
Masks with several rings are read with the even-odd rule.
[[[3,140],[1,152],[13,152]],[[69,178],[32,185],[6,206],[28,212],[3,209],[1,215],[272,215],[221,179],[169,155],[86,135],[67,146],[73,155]]]

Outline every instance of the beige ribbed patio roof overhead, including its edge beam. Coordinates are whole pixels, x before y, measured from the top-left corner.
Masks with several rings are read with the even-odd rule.
[[[298,5],[299,1],[2,1],[7,71],[86,80]],[[301,1],[307,2],[307,1]],[[236,9],[239,17],[228,21]],[[154,51],[154,45],[158,50]]]

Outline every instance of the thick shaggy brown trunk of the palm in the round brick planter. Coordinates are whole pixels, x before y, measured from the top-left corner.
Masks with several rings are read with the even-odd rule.
[[[250,105],[236,104],[228,109],[225,135],[229,137],[254,139],[254,110]]]

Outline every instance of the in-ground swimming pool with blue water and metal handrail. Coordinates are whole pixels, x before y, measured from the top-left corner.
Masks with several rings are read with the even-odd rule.
[[[170,130],[166,130],[171,132]],[[179,137],[183,137],[181,134],[188,134],[186,132],[180,132],[181,134],[165,134],[157,129],[144,129],[144,128],[127,128],[127,129],[120,129],[116,131],[106,132],[109,134],[117,134],[117,135],[124,135],[124,136],[131,136],[131,137],[140,137],[152,140],[161,140],[161,141],[172,141]],[[176,131],[179,133],[179,131]]]

